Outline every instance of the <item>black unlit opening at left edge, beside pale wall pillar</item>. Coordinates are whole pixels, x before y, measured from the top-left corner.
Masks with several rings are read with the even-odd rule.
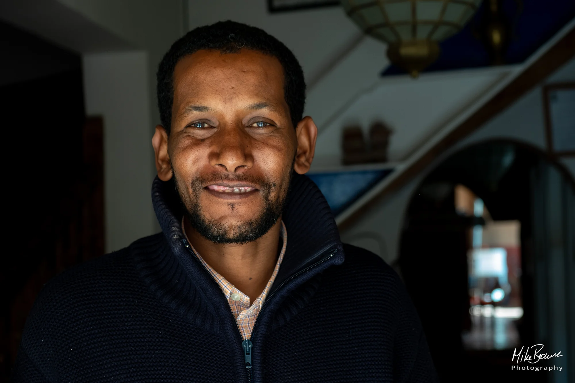
[[[78,55],[0,25],[5,249],[0,381],[25,319],[55,274],[104,253],[102,120],[86,119]]]

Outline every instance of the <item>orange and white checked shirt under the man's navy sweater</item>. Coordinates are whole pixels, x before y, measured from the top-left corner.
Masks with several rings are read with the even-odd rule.
[[[184,229],[183,225],[183,217],[182,217],[182,232],[185,235],[186,240],[188,243],[191,242],[187,238],[186,230]],[[204,261],[204,258],[200,256],[200,253],[194,249],[194,246],[191,248],[194,250],[194,253],[197,254],[198,258],[206,269],[212,274],[214,279],[216,280],[217,284],[220,285],[221,291],[224,293],[225,298],[228,300],[229,307],[231,307],[233,316],[236,318],[237,327],[240,328],[241,336],[243,339],[250,338],[251,331],[254,328],[255,319],[258,318],[259,311],[262,309],[263,301],[266,299],[267,294],[270,292],[271,285],[274,283],[275,276],[277,276],[279,271],[279,265],[281,265],[283,260],[283,254],[286,251],[286,244],[287,244],[287,230],[286,226],[283,224],[280,231],[280,235],[283,239],[282,250],[279,253],[278,261],[275,264],[274,273],[271,274],[270,280],[267,282],[266,288],[263,289],[262,293],[259,297],[254,300],[254,303],[250,306],[250,297],[248,297],[243,292],[239,291],[235,288],[234,285],[229,283],[223,276],[221,276],[216,270],[212,269],[210,265]]]

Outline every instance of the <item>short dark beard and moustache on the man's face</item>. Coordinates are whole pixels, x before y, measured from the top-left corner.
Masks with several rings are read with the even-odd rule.
[[[285,207],[292,172],[293,164],[290,167],[290,171],[280,181],[279,190],[278,184],[269,177],[260,178],[245,174],[231,175],[230,173],[212,173],[207,176],[198,176],[191,180],[189,184],[191,194],[187,193],[187,189],[180,187],[184,183],[178,179],[175,172],[173,172],[173,175],[177,195],[191,227],[196,229],[202,237],[210,239],[212,242],[243,244],[256,241],[275,225]],[[259,192],[263,199],[262,209],[255,214],[253,219],[240,222],[232,227],[206,216],[200,204],[200,195],[204,191],[204,185],[217,184],[218,181],[247,182],[259,185]],[[276,192],[275,198],[273,196],[274,192]],[[228,207],[232,213],[235,209],[235,204],[235,202],[228,202]]]

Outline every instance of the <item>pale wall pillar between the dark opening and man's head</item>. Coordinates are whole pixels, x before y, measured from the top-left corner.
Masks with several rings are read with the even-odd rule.
[[[82,59],[87,115],[104,117],[106,252],[154,233],[148,57],[143,51]]]

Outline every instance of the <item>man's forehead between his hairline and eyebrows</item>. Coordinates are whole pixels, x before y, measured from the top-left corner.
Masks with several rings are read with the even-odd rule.
[[[251,49],[238,53],[202,49],[183,57],[174,68],[174,107],[205,96],[252,94],[283,99],[283,81],[283,67],[274,56]]]

